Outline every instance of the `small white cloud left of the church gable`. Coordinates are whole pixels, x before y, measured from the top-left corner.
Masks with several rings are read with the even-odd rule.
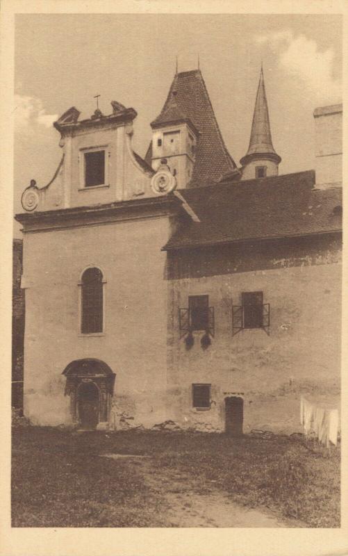
[[[51,127],[57,118],[46,113],[40,99],[15,95],[15,131],[33,133],[38,126]]]

